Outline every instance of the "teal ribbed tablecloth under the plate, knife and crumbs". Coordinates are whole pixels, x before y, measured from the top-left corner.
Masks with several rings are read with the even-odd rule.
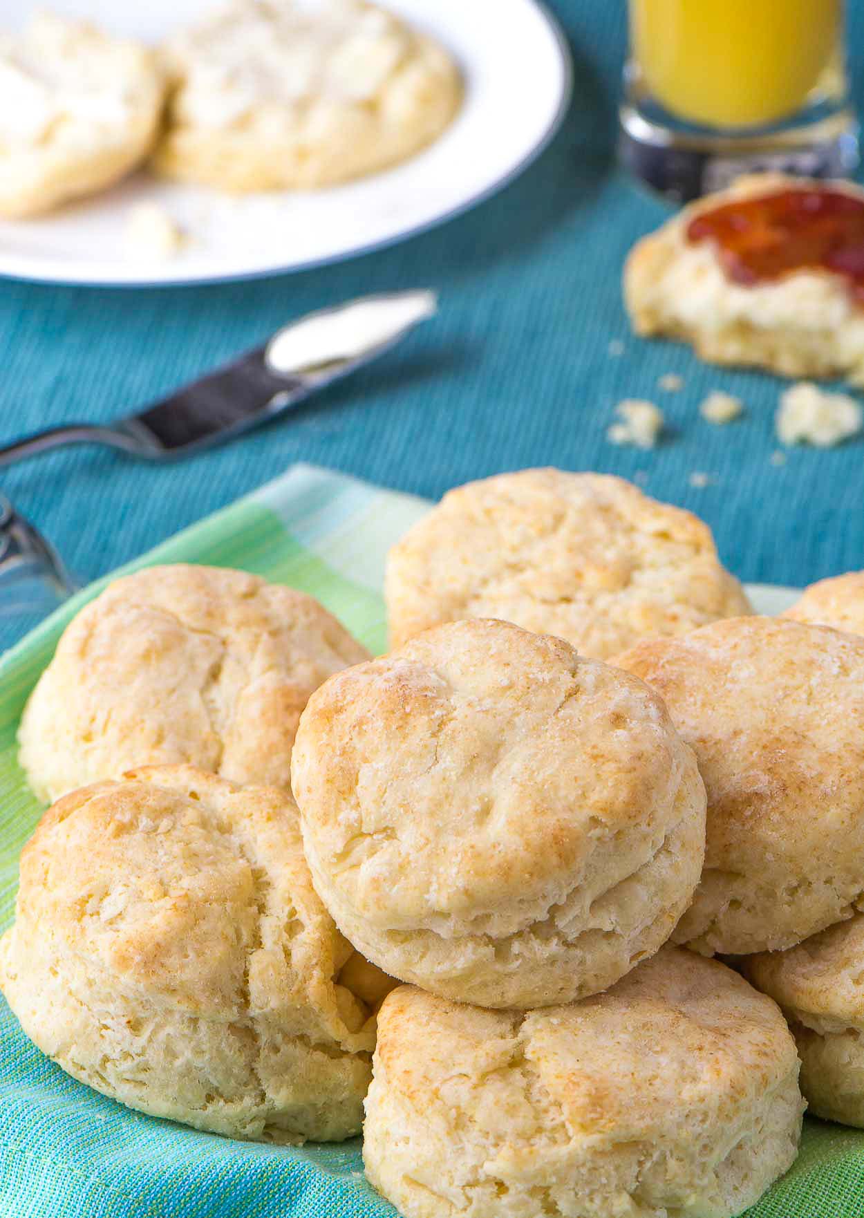
[[[541,463],[640,474],[650,493],[706,516],[746,580],[798,585],[864,566],[864,442],[797,449],[776,468],[769,458],[777,380],[704,368],[684,348],[628,339],[621,259],[664,208],[613,164],[625,5],[553,7],[574,50],[572,111],[542,158],[473,213],[383,253],[251,284],[0,284],[0,438],[128,410],[306,309],[383,289],[441,291],[440,318],[386,363],[229,448],[173,468],[77,451],[5,471],[0,487],[78,572],[111,570],[295,460],[424,496]],[[862,111],[863,10],[852,0]],[[613,337],[626,342],[617,359],[607,354]],[[667,371],[684,376],[680,393],[656,389]],[[714,386],[747,401],[746,421],[712,428],[698,419],[699,397]],[[604,438],[628,396],[653,396],[667,409],[674,431],[654,453]],[[693,488],[693,471],[715,481]],[[0,647],[29,624],[0,620]]]

